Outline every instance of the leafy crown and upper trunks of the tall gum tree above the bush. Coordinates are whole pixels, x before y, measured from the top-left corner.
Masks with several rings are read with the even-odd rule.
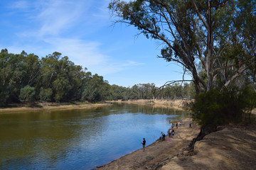
[[[112,0],[114,23],[135,26],[162,42],[161,58],[181,64],[196,94],[230,86],[255,63],[253,0]],[[199,76],[200,63],[207,81]]]

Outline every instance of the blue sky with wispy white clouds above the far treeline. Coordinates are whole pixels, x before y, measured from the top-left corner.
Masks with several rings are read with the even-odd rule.
[[[46,57],[60,52],[109,84],[130,86],[181,80],[183,69],[158,58],[161,42],[113,24],[110,0],[1,0],[0,48]],[[191,77],[186,76],[186,79]]]

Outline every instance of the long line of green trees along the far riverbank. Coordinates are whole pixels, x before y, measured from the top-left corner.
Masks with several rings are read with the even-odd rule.
[[[0,53],[0,106],[33,101],[105,101],[152,98],[191,98],[193,84],[155,84],[130,87],[110,85],[98,74],[87,72],[61,53],[41,57],[34,54]]]

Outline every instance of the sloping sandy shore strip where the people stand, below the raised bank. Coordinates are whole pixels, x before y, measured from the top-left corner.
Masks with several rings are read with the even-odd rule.
[[[169,137],[166,135],[166,141],[156,140],[151,145],[146,146],[145,152],[138,149],[108,164],[97,166],[97,169],[155,169],[163,160],[183,154],[185,148],[198,135],[200,127],[193,123],[193,128],[189,128],[190,122],[191,118],[184,118],[178,129],[174,126],[175,134],[174,137],[170,138],[171,140],[167,140]]]

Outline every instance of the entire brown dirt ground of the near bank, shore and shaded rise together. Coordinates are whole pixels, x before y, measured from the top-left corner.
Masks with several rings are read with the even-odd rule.
[[[173,139],[154,142],[98,169],[256,169],[256,123],[220,127],[196,142],[194,152],[185,148],[200,128],[186,118]],[[169,137],[167,137],[168,139]]]

